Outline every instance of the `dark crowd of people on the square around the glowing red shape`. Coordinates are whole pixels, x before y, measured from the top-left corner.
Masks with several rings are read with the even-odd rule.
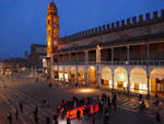
[[[38,82],[38,79],[36,79],[36,82]],[[48,87],[51,88],[52,83],[49,82]],[[147,104],[142,98],[142,95],[139,95],[139,101],[140,101],[140,112],[145,113],[148,108]],[[112,119],[112,113],[114,111],[117,111],[117,94],[112,93],[112,94],[106,94],[105,92],[102,95],[96,95],[96,97],[72,97],[72,99],[69,100],[62,100],[61,104],[56,105],[56,112],[54,113],[54,116],[45,116],[45,124],[59,124],[59,117],[61,121],[66,121],[67,124],[71,124],[72,121],[72,113],[74,109],[77,109],[74,119],[78,121],[91,121],[92,124],[95,124],[96,122],[96,116],[97,115],[103,115],[103,122],[102,124],[109,124],[110,119]],[[156,97],[156,100],[154,104],[156,108],[159,106],[159,98]],[[23,113],[23,103],[19,103],[19,109],[15,110],[15,120],[19,120],[19,116],[21,113]],[[50,108],[50,100],[49,98],[44,99],[43,103],[40,106],[36,106],[33,111],[34,115],[34,122],[35,124],[38,124],[39,117],[38,117],[38,108]],[[93,111],[92,111],[93,110]],[[156,111],[156,121],[161,122],[161,116],[159,111]],[[12,114],[9,113],[7,115],[7,119],[9,121],[9,124],[12,123]],[[52,120],[52,121],[51,121]],[[44,123],[43,123],[44,124]]]

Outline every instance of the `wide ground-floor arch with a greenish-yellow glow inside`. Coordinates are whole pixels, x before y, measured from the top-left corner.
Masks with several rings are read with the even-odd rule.
[[[114,70],[114,86],[115,88],[128,87],[128,71],[124,67],[117,67]]]

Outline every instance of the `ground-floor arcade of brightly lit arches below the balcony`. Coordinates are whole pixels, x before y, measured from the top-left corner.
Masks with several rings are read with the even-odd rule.
[[[140,93],[164,93],[164,67],[54,65],[51,78],[68,83],[98,86]]]

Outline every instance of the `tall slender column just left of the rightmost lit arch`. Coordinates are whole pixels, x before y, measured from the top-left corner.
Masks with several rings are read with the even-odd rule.
[[[149,43],[147,44],[147,79],[148,79],[148,98],[150,95],[150,81],[149,81]]]

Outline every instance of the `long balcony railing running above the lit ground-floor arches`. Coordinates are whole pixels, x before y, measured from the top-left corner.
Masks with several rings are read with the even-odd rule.
[[[54,65],[115,65],[115,66],[164,66],[164,60],[130,60],[130,61],[69,61],[54,63]]]

